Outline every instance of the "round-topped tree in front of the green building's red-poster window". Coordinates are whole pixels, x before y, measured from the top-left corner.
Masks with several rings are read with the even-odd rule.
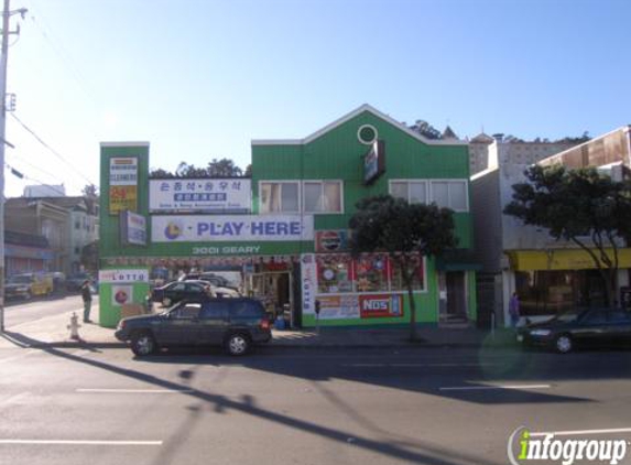
[[[379,195],[357,203],[350,218],[350,247],[361,252],[387,252],[401,270],[410,299],[410,339],[416,339],[416,305],[412,290],[423,256],[437,257],[456,247],[453,210],[435,204],[410,204],[403,198]]]

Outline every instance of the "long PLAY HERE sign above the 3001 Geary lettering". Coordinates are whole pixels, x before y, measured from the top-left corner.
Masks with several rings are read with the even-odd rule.
[[[153,242],[314,240],[313,215],[153,216]]]

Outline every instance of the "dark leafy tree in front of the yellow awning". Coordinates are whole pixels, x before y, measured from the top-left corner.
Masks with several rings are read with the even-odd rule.
[[[527,183],[513,185],[504,214],[548,230],[555,240],[574,242],[602,277],[607,304],[616,302],[618,249],[631,234],[631,184],[614,182],[595,167],[567,170],[533,165]]]

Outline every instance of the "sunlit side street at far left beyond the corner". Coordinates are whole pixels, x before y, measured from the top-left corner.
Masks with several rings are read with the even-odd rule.
[[[4,327],[11,329],[22,323],[58,315],[68,311],[81,311],[80,295],[53,296],[48,299],[34,299],[28,302],[10,302],[4,307]]]

